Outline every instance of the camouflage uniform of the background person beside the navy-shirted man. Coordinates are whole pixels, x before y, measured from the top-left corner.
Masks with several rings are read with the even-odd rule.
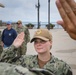
[[[27,51],[27,43],[30,41],[30,33],[27,27],[22,26],[21,28],[16,28],[17,33],[21,33],[24,32],[25,33],[25,37],[24,37],[24,42],[23,44],[18,48],[18,53],[17,55],[25,55],[26,51]]]

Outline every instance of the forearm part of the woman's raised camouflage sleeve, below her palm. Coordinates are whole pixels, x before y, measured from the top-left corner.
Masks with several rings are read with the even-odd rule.
[[[1,62],[9,62],[16,56],[16,50],[13,45],[11,45],[8,48],[3,49],[3,52],[1,54]]]

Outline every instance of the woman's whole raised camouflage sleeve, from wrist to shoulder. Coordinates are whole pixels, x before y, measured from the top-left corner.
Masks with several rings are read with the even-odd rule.
[[[1,54],[0,62],[7,62],[15,65],[22,65],[28,68],[30,63],[29,55],[17,56],[17,49],[13,45],[8,48],[5,48]]]

